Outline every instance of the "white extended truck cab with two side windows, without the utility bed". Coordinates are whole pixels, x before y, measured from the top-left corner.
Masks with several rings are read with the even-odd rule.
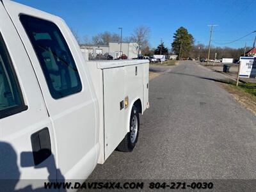
[[[79,45],[62,19],[28,6],[2,1],[0,18],[0,138],[20,173],[8,172],[10,158],[1,156],[0,179],[88,177],[99,156],[99,110],[90,75],[77,65]]]

